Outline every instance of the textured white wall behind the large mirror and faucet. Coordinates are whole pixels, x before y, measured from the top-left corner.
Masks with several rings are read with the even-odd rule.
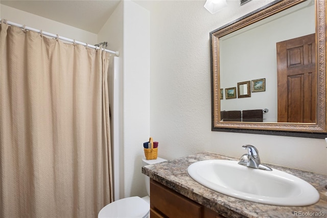
[[[158,155],[173,159],[199,151],[241,157],[258,147],[263,162],[327,174],[323,139],[211,131],[209,32],[271,1],[255,1],[212,15],[205,1],[151,1],[151,135]]]

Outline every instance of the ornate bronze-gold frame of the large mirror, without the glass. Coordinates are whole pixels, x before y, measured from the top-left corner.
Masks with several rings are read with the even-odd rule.
[[[219,38],[306,0],[277,0],[210,33],[212,64],[212,130],[307,138],[327,137],[326,128],[326,1],[315,1],[317,45],[317,110],[315,123],[227,122],[220,115]]]

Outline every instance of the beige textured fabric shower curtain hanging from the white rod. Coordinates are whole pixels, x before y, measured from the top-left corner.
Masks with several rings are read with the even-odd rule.
[[[0,34],[0,217],[97,217],[112,201],[108,53]]]

